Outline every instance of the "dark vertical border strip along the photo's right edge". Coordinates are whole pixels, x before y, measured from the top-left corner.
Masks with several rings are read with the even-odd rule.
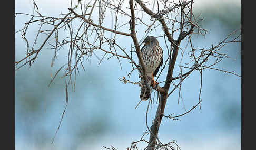
[[[252,1],[241,1],[241,24],[242,24],[242,42],[241,42],[241,66],[242,66],[242,82],[241,82],[241,136],[242,149],[255,149],[255,134],[253,128],[256,127],[255,121],[255,24],[252,18],[254,16],[255,5]],[[245,4],[247,2],[247,4]],[[252,86],[251,86],[251,85]]]

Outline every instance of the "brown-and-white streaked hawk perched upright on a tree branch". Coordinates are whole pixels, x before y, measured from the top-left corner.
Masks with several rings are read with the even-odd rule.
[[[146,67],[147,81],[141,76],[142,87],[140,98],[146,101],[150,97],[151,89],[145,82],[149,83],[152,87],[156,84],[154,76],[158,73],[160,66],[163,65],[163,50],[159,46],[159,41],[154,36],[147,36],[143,42],[144,46],[141,48],[141,54]],[[140,61],[139,66],[139,72],[142,74]]]

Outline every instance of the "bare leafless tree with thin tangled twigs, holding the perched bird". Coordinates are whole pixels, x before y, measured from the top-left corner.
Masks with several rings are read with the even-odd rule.
[[[193,14],[193,3],[193,0],[154,0],[152,2],[129,0],[129,3],[124,0],[78,0],[74,2],[71,1],[70,8],[67,8],[67,13],[62,14],[61,17],[51,17],[41,14],[39,7],[34,2],[34,11],[37,15],[16,13],[16,17],[18,15],[31,16],[31,19],[25,23],[24,28],[16,31],[16,33],[22,32],[22,38],[27,43],[26,56],[21,60],[16,60],[16,70],[19,70],[25,65],[32,66],[33,63],[36,62],[37,56],[42,51],[42,48],[48,44],[51,46],[51,49],[54,50],[51,66],[54,65],[57,52],[62,48],[68,49],[67,62],[55,73],[55,76],[50,82],[50,84],[53,82],[60,70],[65,69],[64,79],[66,83],[67,103],[67,87],[71,85],[72,89],[75,90],[76,74],[80,69],[84,69],[82,60],[90,59],[92,56],[96,56],[99,59],[99,63],[106,57],[114,57],[119,61],[121,69],[122,63],[120,60],[126,59],[128,61],[127,63],[131,64],[132,68],[131,72],[127,74],[127,77],[129,78],[132,73],[136,73],[137,70],[140,70],[137,72],[139,73],[139,77],[137,81],[130,81],[129,79],[126,79],[127,77],[120,78],[119,80],[124,83],[132,83],[142,86],[143,83],[139,81],[139,78],[143,76],[144,79],[147,79],[147,76],[145,74],[146,68],[142,58],[140,45],[147,35],[150,35],[152,31],[157,30],[160,34],[157,38],[163,38],[165,41],[165,43],[161,43],[161,46],[164,46],[164,53],[168,53],[168,58],[163,61],[163,67],[156,79],[157,84],[154,87],[150,87],[152,92],[156,91],[157,93],[156,100],[158,108],[155,113],[153,124],[149,127],[147,124],[147,113],[149,111],[149,105],[152,104],[152,101],[155,98],[150,97],[146,110],[146,126],[148,131],[143,134],[141,140],[132,142],[130,148],[127,149],[137,149],[136,144],[139,142],[146,142],[148,144],[145,149],[180,149],[174,141],[167,144],[163,144],[160,141],[158,133],[162,118],[167,117],[172,120],[179,120],[180,116],[188,114],[194,108],[198,106],[201,108],[202,74],[205,69],[214,69],[241,77],[234,72],[214,68],[214,66],[223,59],[229,58],[229,56],[222,52],[222,48],[225,45],[240,42],[241,33],[233,31],[227,37],[220,40],[218,44],[209,46],[208,49],[194,47],[192,42],[193,35],[205,36],[207,30],[202,29],[199,25],[203,19],[201,19],[200,16],[195,16]],[[92,16],[95,15],[97,16],[97,19],[93,20]],[[35,36],[35,40],[32,42],[32,46],[26,38],[27,29],[31,24],[37,24],[38,26],[38,32]],[[52,29],[45,30],[45,26],[52,26]],[[142,26],[145,30],[138,30],[136,26]],[[58,36],[59,33],[65,33],[67,35],[61,40]],[[46,38],[38,49],[34,49],[38,38],[43,34],[46,35]],[[143,36],[139,39],[138,35]],[[175,39],[175,35],[178,35],[178,38]],[[50,37],[54,37],[55,40],[49,42]],[[123,43],[119,40],[120,37],[126,38],[127,41],[131,40],[130,49],[123,46]],[[186,46],[180,47],[183,40],[186,42]],[[184,53],[186,49],[190,50],[188,52],[189,55],[187,56]],[[178,51],[182,51],[181,59],[189,57],[190,62],[184,63],[180,61],[180,64],[178,66],[176,65],[176,67],[180,68],[180,74],[177,77],[173,77],[173,70],[177,61]],[[141,66],[137,63],[138,60],[141,62]],[[183,72],[184,70],[188,71]],[[158,81],[159,77],[163,76],[162,72],[164,71],[167,71],[165,80]],[[169,96],[174,90],[179,90],[180,92],[182,82],[194,71],[199,71],[201,74],[201,79],[199,79],[201,88],[199,91],[198,103],[183,114],[176,116],[173,116],[173,114],[165,115],[165,105]],[[140,72],[142,73],[140,74]],[[174,81],[176,81],[176,83]],[[162,86],[160,84],[162,84]],[[171,84],[173,84],[172,89],[170,89]],[[137,105],[139,105],[139,103]],[[146,140],[144,136],[148,134],[150,137],[149,140]],[[105,148],[115,149],[114,147]]]

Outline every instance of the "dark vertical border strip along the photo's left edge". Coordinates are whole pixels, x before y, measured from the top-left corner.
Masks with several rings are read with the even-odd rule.
[[[15,149],[15,1],[5,1],[1,12],[1,147]]]

